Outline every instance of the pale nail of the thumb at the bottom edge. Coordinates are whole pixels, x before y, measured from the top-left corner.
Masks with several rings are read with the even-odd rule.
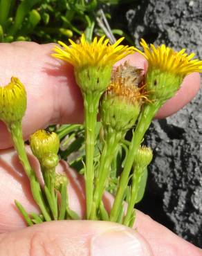
[[[152,256],[149,246],[130,228],[114,228],[91,241],[92,256]]]

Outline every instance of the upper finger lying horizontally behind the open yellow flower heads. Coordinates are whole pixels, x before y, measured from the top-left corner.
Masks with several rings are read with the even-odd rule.
[[[11,76],[17,76],[26,86],[28,107],[23,120],[25,139],[37,129],[50,124],[83,121],[82,95],[75,84],[73,68],[50,56],[53,44],[15,42],[0,44],[0,50],[0,84],[8,84]],[[139,68],[147,68],[147,62],[138,53],[129,55],[122,62],[125,60]],[[164,113],[174,113],[193,98],[199,89],[199,75],[195,73],[184,84],[186,89],[178,92],[174,104],[165,105],[160,117]],[[2,122],[0,131],[0,149],[10,147],[10,135]]]

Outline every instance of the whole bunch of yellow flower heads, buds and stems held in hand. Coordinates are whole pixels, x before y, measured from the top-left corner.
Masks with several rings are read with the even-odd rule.
[[[178,90],[185,75],[189,75],[192,72],[202,72],[202,62],[200,60],[193,60],[194,53],[187,55],[187,53],[185,53],[185,49],[176,52],[164,44],[157,47],[155,47],[153,44],[148,46],[147,43],[142,39],[140,42],[140,45],[143,46],[144,50],[142,52],[133,46],[129,47],[120,45],[123,39],[124,38],[122,37],[118,39],[115,44],[111,45],[109,44],[109,39],[104,39],[104,37],[98,39],[95,37],[93,42],[89,43],[86,42],[84,35],[82,35],[80,44],[76,44],[69,39],[71,44],[70,46],[67,46],[63,42],[59,42],[62,48],[59,46],[55,46],[54,48],[54,57],[64,60],[74,66],[75,77],[77,83],[82,89],[84,97],[86,97],[89,92],[91,95],[89,98],[84,98],[84,107],[89,108],[88,111],[86,111],[87,115],[89,115],[88,118],[86,118],[86,120],[89,120],[89,123],[86,122],[86,127],[89,125],[89,131],[91,131],[88,135],[91,135],[91,137],[86,139],[86,144],[89,143],[89,147],[86,147],[86,149],[89,150],[88,154],[86,150],[86,159],[89,157],[88,165],[86,161],[85,176],[89,175],[88,179],[86,179],[86,190],[91,188],[91,190],[86,193],[86,216],[88,219],[91,216],[91,206],[93,205],[92,200],[88,201],[88,195],[90,195],[89,199],[92,199],[94,189],[93,147],[95,145],[95,133],[93,129],[95,129],[95,127],[93,125],[96,122],[98,104],[101,95],[103,95],[100,103],[102,125],[104,127],[105,134],[109,132],[111,135],[111,130],[113,130],[112,134],[115,134],[114,131],[116,131],[117,136],[116,139],[114,138],[114,145],[118,145],[118,141],[120,141],[122,137],[125,138],[127,130],[133,127],[136,120],[138,120],[138,124],[139,122],[144,122],[143,126],[137,125],[140,133],[138,134],[137,131],[136,134],[138,134],[138,136],[134,137],[134,141],[138,141],[138,143],[135,143],[129,148],[131,152],[129,152],[128,156],[131,157],[132,161],[130,161],[131,163],[129,162],[128,165],[125,165],[125,169],[123,170],[125,174],[128,174],[126,175],[127,177],[129,176],[134,159],[136,163],[144,163],[145,166],[152,161],[151,149],[141,147],[137,151],[137,154],[136,150],[134,150],[138,149],[140,146],[145,131],[147,127],[149,127],[149,122],[151,122],[156,111],[158,110],[151,108],[149,112],[147,109],[147,112],[140,115],[140,111],[142,110],[141,107],[145,100],[150,103],[158,100],[160,104],[156,104],[156,106],[159,108],[163,102],[165,102],[165,100],[171,98],[172,95],[174,95],[174,93]],[[137,51],[147,59],[148,71],[145,77],[142,69],[130,66],[127,64],[127,62],[125,62],[125,64],[121,64],[115,70],[112,70],[113,64],[118,62],[118,60],[121,60],[123,57],[134,53],[134,51]],[[95,93],[96,91],[98,91],[97,94]],[[93,95],[93,93],[95,94]],[[147,94],[151,94],[152,96]],[[23,84],[21,84],[16,77],[12,77],[7,86],[0,87],[0,120],[3,120],[3,122],[6,123],[12,132],[12,138],[19,153],[21,163],[23,163],[28,177],[35,182],[35,175],[33,174],[33,170],[28,163],[28,158],[23,147],[24,141],[21,133],[21,119],[23,118],[25,111],[26,90]],[[92,115],[93,111],[94,113]],[[149,115],[147,115],[148,113]],[[143,116],[143,119],[140,119],[140,121],[138,119],[139,116]],[[136,140],[137,138],[138,140]],[[19,145],[17,143],[19,143]],[[110,143],[111,140],[109,140],[109,144]],[[114,145],[114,152],[116,152],[117,150]],[[57,194],[54,192],[55,188],[60,190],[61,194],[63,194],[64,198],[62,201],[63,203],[65,202],[64,208],[62,208],[62,206],[60,208],[59,219],[65,218],[65,211],[70,216],[73,216],[74,214],[73,218],[77,219],[75,213],[68,209],[68,205],[66,204],[66,194],[62,193],[63,187],[64,191],[66,191],[66,177],[62,176],[61,174],[55,174],[55,167],[59,161],[57,156],[57,152],[59,150],[59,138],[57,137],[57,134],[49,134],[42,130],[37,131],[35,134],[33,134],[33,136],[30,137],[30,147],[33,154],[37,156],[39,163],[42,166],[42,174],[44,176],[45,185],[48,188],[47,191],[45,190],[46,199],[49,203],[53,219],[58,218]],[[132,158],[132,154],[136,154],[134,159]],[[113,156],[113,154],[111,155]],[[105,155],[103,154],[103,156]],[[105,163],[105,161],[103,161],[103,163]],[[109,166],[106,168],[106,170],[109,170],[110,162],[107,163]],[[48,172],[46,172],[47,170]],[[123,184],[127,187],[128,179],[120,179],[120,184],[121,181],[126,181],[126,183]],[[40,194],[39,192],[39,185],[37,187],[36,183],[33,184],[35,185],[35,188],[37,188],[37,190],[33,190],[35,201],[42,210],[44,219],[49,221],[51,218],[49,213],[46,211],[46,207],[43,205],[42,198],[40,197],[42,196],[42,193]],[[64,186],[62,187],[61,185]],[[125,186],[123,187],[125,188]],[[48,192],[49,190],[52,192],[52,194]],[[124,190],[122,190],[122,192],[124,192]],[[102,194],[100,199],[101,198]],[[123,198],[123,195],[121,195],[120,198]],[[134,201],[134,203],[136,202]],[[116,207],[119,205],[119,203],[116,203],[116,198],[114,205],[116,205]],[[116,207],[112,208],[111,212],[118,213]],[[133,208],[134,204],[131,208],[132,211]],[[19,206],[19,210],[20,209],[22,209],[21,206]],[[21,212],[23,214],[24,210],[21,210]],[[128,219],[125,219],[124,223],[127,223],[127,225],[129,225],[128,221],[131,219],[131,216],[133,216],[131,213],[132,212],[129,212],[129,214],[127,214]],[[116,221],[116,219],[113,218],[113,214],[111,216],[112,217],[110,220]],[[28,214],[26,217],[28,217]],[[30,225],[37,223],[28,219],[28,223],[29,221],[31,222]],[[35,221],[37,220],[35,219]],[[40,219],[40,221],[42,220]]]

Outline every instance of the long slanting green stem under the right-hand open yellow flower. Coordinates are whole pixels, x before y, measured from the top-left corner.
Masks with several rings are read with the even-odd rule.
[[[127,188],[127,183],[129,180],[129,174],[131,171],[131,167],[134,163],[134,156],[138,147],[140,147],[140,143],[143,140],[143,136],[145,132],[149,128],[149,125],[152,122],[156,112],[160,108],[163,102],[156,101],[152,104],[145,105],[143,111],[140,113],[140,117],[138,119],[138,125],[136,130],[134,131],[131,143],[129,145],[129,152],[127,154],[126,162],[124,170],[120,176],[120,183],[118,185],[118,191],[116,193],[116,197],[113,203],[113,207],[110,213],[110,221],[116,222],[118,219],[118,213],[122,206],[122,200],[124,199],[125,188]]]

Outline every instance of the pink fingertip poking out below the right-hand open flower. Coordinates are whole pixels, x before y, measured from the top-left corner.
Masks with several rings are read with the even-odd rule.
[[[201,77],[199,73],[191,73],[183,80],[181,88],[177,91],[173,98],[167,100],[159,109],[156,118],[166,118],[182,109],[189,103],[199,92]]]

